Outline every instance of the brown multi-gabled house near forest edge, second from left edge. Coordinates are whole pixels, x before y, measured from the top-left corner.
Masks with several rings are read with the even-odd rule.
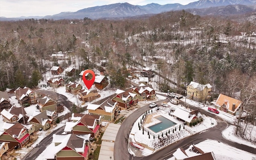
[[[36,104],[37,93],[32,91],[28,87],[20,88],[18,87],[15,91],[16,99],[21,105]]]

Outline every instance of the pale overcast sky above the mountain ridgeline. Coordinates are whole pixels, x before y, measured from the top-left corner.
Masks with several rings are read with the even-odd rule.
[[[1,17],[47,16],[60,12],[76,12],[78,10],[114,3],[128,2],[133,5],[189,4],[198,0],[0,0]]]

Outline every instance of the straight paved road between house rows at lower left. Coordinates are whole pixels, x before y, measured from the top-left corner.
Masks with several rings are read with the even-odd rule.
[[[30,150],[30,152],[28,152],[28,154],[26,154],[26,156],[23,157],[21,160],[35,160],[45,150],[45,148],[50,143],[52,143],[52,135],[62,134],[62,132],[64,132],[64,127],[65,126],[59,128],[58,130],[54,130],[52,133],[46,136],[35,148]]]

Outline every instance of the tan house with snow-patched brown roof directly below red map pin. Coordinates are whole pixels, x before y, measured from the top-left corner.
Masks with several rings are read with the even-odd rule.
[[[82,90],[78,90],[77,92],[78,98],[84,102],[92,101],[97,98],[100,98],[100,94],[98,93],[98,90],[87,90],[85,88],[82,88]]]

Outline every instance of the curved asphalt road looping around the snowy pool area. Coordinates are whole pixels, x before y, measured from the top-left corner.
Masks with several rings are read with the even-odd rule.
[[[159,101],[158,103],[160,104],[161,102],[162,101]],[[180,104],[184,106],[184,102],[180,102]],[[191,105],[188,105],[188,106],[189,108],[192,108],[194,110],[198,109],[197,107],[194,107]],[[150,156],[134,157],[128,152],[128,139],[129,139],[130,130],[132,129],[134,122],[140,117],[140,115],[142,115],[144,112],[146,112],[149,109],[151,109],[149,108],[149,105],[143,106],[142,108],[135,110],[132,114],[130,114],[130,116],[124,119],[118,131],[118,134],[116,135],[116,141],[114,144],[115,160],[164,160],[166,158],[172,157],[172,154],[177,150],[177,148],[187,149],[191,144],[197,144],[206,139],[217,140],[219,142],[226,143],[230,146],[234,146],[235,148],[245,150],[253,154],[256,153],[256,148],[231,142],[223,138],[221,132],[227,127],[226,122],[224,122],[221,118],[219,118],[215,114],[212,114],[206,110],[199,109],[202,114],[206,114],[210,117],[215,118],[218,121],[218,124],[213,128],[210,128],[206,132],[203,132],[201,134],[194,134],[192,136],[189,136],[188,138],[185,138],[174,144],[171,144],[170,146],[166,146],[165,148],[155,152]]]

